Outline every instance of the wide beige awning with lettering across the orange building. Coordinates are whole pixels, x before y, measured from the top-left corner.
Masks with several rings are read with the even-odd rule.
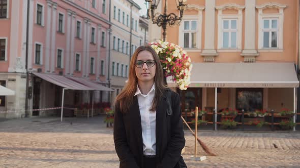
[[[296,88],[299,81],[293,63],[193,63],[189,87]]]

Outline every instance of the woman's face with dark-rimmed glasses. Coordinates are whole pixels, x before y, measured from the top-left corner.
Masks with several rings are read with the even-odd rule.
[[[154,82],[156,62],[151,52],[141,51],[135,60],[135,74],[138,81]]]

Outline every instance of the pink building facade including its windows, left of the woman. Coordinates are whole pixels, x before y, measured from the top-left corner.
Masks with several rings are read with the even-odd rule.
[[[15,91],[2,97],[0,117],[25,115],[27,1],[0,1],[0,81]],[[81,77],[107,85],[109,1],[31,0],[28,18],[29,109],[56,107],[61,88],[32,72]],[[66,105],[89,100],[87,91],[67,91]],[[108,92],[97,91],[94,102],[108,101]],[[39,111],[32,115],[51,115]]]

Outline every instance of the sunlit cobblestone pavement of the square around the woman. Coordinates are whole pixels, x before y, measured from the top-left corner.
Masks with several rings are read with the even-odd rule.
[[[190,159],[195,140],[185,133],[188,167],[300,167],[299,132],[200,131],[199,138],[218,154],[204,161]],[[2,121],[0,167],[118,167],[112,137],[103,117]],[[198,155],[205,155],[199,144]]]

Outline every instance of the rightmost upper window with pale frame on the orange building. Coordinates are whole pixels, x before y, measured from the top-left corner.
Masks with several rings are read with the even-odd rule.
[[[263,48],[277,48],[278,19],[263,19]]]

